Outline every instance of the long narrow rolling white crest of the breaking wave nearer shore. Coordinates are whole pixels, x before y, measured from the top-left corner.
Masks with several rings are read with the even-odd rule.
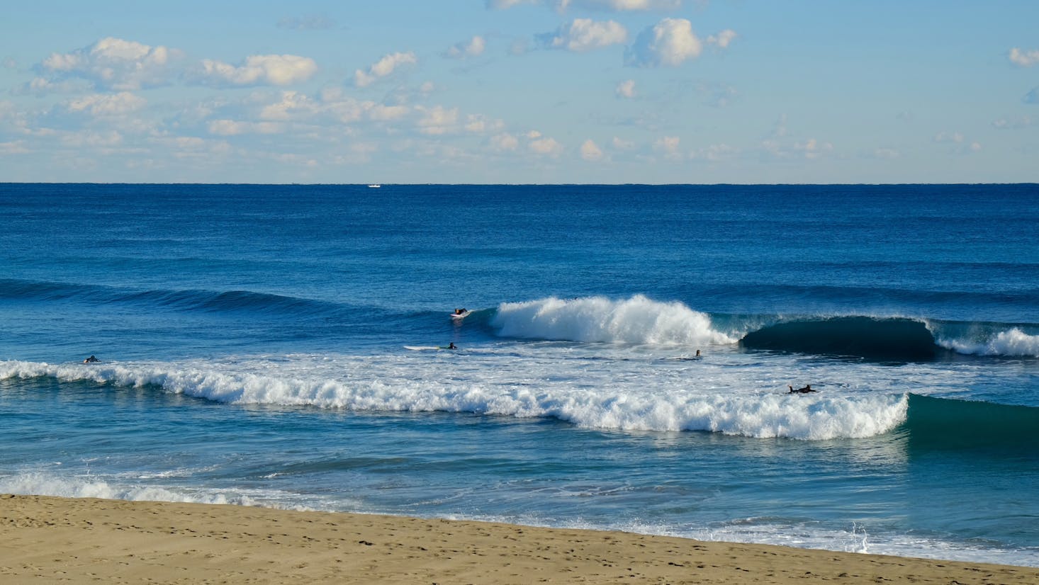
[[[807,441],[883,434],[906,418],[905,395],[793,396],[699,393],[686,389],[614,391],[574,385],[529,387],[441,379],[292,378],[169,365],[50,365],[0,362],[0,380],[57,378],[154,388],[228,404],[344,408],[356,411],[445,411],[551,418],[586,428],[709,431]]]

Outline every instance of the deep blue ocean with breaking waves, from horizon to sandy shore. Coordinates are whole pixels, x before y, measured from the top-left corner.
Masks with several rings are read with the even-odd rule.
[[[0,493],[1039,566],[1039,185],[2,184],[0,263]]]

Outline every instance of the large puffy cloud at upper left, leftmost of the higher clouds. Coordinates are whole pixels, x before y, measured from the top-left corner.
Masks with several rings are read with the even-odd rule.
[[[169,83],[170,63],[182,56],[176,49],[108,36],[72,53],[52,53],[38,70],[85,79],[96,87],[135,90]]]

